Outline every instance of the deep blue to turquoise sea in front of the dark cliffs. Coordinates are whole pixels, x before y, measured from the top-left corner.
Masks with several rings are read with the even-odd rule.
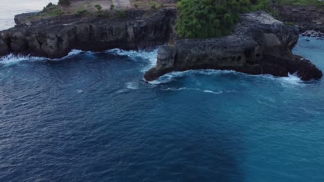
[[[323,50],[301,37],[294,53],[324,70]],[[0,181],[324,181],[323,80],[197,70],[147,83],[155,62],[1,58]]]

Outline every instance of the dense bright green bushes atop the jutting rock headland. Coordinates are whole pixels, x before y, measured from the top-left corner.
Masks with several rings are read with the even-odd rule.
[[[271,0],[181,0],[177,3],[181,38],[222,37],[244,12],[271,10]]]

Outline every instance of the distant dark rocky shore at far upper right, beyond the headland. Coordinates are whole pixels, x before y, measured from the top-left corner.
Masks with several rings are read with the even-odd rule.
[[[315,6],[274,6],[281,21],[291,22],[300,32],[314,30],[324,34],[324,9]]]

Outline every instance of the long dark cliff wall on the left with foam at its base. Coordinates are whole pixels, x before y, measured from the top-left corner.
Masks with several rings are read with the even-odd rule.
[[[162,45],[174,32],[177,12],[165,8],[152,13],[129,12],[123,19],[71,16],[25,23],[21,21],[23,18],[16,17],[15,28],[0,32],[0,56],[13,52],[58,58],[72,49],[136,50]]]

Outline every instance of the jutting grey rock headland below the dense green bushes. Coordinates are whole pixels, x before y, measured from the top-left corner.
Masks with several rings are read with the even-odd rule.
[[[291,53],[298,30],[265,12],[242,14],[234,33],[219,39],[184,39],[159,49],[156,66],[145,73],[152,81],[173,71],[195,69],[235,70],[248,74],[320,79],[322,72],[310,61]]]

